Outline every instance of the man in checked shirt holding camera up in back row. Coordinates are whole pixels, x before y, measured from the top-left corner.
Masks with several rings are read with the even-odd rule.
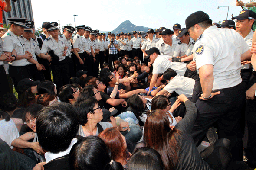
[[[113,61],[118,59],[118,42],[115,40],[115,34],[111,34],[111,39],[108,41],[108,49],[109,49],[109,58],[108,64],[109,67],[113,68]]]

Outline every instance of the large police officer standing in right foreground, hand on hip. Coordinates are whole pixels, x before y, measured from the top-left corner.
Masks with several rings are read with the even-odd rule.
[[[243,160],[240,112],[245,101],[241,84],[241,61],[251,56],[239,33],[218,29],[203,11],[186,19],[190,37],[196,39],[194,56],[203,93],[196,102],[198,109],[192,136],[198,146],[208,128],[217,122],[219,138],[232,143],[234,161]]]

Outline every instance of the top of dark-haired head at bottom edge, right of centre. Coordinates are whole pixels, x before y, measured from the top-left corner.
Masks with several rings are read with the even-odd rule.
[[[160,154],[152,148],[138,148],[128,161],[128,170],[140,169],[164,170],[164,164]]]

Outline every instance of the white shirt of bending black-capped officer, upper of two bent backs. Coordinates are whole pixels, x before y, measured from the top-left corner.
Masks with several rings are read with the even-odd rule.
[[[169,58],[169,55],[158,55],[153,63],[153,74],[164,73],[168,68],[171,68],[177,74],[184,76],[187,70],[187,64],[183,62],[171,62]]]

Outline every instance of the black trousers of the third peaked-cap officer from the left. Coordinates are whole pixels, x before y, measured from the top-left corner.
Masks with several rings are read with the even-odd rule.
[[[57,85],[57,91],[69,83],[70,74],[69,74],[69,64],[66,59],[58,61],[58,64],[51,65],[53,72],[53,82]]]

